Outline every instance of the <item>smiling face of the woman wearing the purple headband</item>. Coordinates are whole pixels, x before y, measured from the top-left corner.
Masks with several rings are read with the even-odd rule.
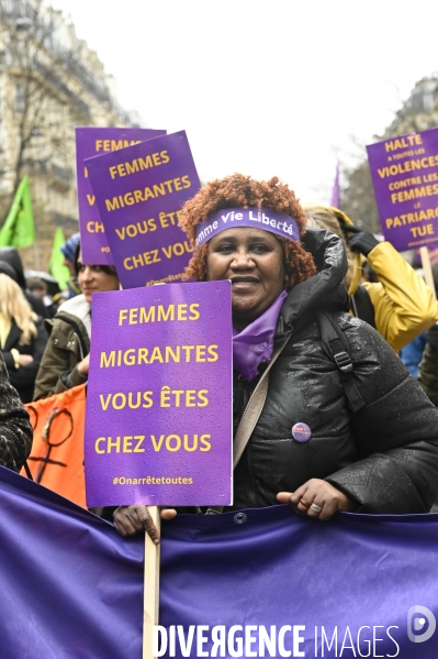
[[[209,281],[232,281],[233,325],[242,330],[283,290],[283,248],[268,231],[228,229],[209,242],[206,273]]]

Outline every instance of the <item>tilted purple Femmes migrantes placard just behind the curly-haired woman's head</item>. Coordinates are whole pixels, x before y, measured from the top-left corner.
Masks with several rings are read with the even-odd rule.
[[[123,288],[180,279],[192,246],[178,218],[200,188],[186,132],[86,164]]]

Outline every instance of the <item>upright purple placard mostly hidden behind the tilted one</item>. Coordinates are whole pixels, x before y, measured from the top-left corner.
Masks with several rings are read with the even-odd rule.
[[[83,263],[112,265],[113,259],[100,219],[96,198],[88,178],[85,158],[119,151],[150,138],[165,135],[166,131],[143,128],[77,128],[76,177],[78,188],[79,229]]]

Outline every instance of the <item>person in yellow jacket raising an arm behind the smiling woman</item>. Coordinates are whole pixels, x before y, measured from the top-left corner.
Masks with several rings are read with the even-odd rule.
[[[372,325],[395,352],[438,320],[433,290],[391,243],[379,242],[372,233],[361,231],[337,208],[313,206],[306,215],[307,226],[328,229],[344,238],[350,312]],[[379,283],[360,284],[361,254]]]

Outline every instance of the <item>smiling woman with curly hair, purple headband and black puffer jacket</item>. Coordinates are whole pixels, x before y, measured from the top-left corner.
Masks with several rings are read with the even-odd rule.
[[[438,411],[386,341],[348,314],[339,237],[306,230],[278,178],[240,174],[202,188],[181,227],[195,246],[187,278],[232,283],[233,509],[280,501],[321,520],[428,512]],[[146,506],[122,506],[114,521],[159,541]]]

